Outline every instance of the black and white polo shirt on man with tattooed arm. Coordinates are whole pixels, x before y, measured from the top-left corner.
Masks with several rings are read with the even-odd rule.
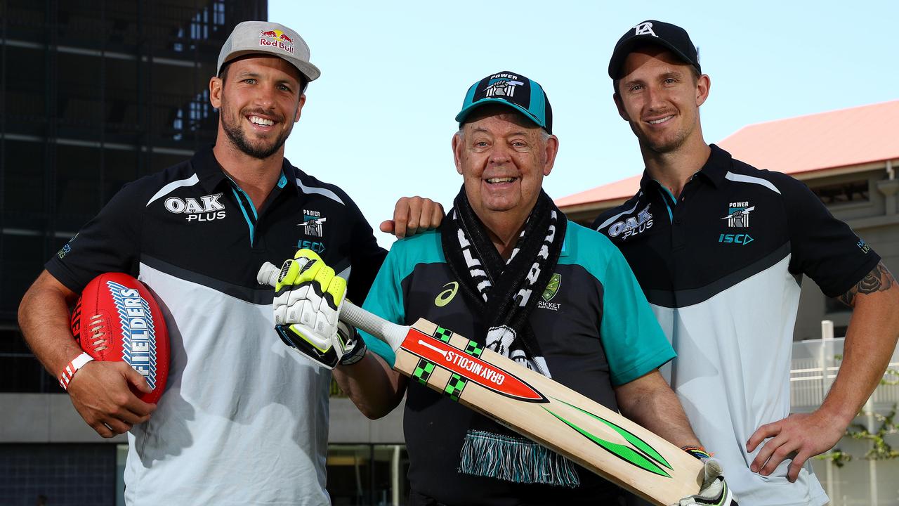
[[[745,443],[789,414],[802,276],[837,296],[880,258],[806,185],[711,149],[677,199],[644,175],[640,191],[593,228],[628,259],[672,340],[678,357],[663,372],[740,500],[823,504],[811,465],[797,483],[787,482],[789,461],[754,474]]]

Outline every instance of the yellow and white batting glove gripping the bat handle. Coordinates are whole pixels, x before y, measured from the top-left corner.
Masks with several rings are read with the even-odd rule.
[[[365,341],[340,321],[346,280],[335,276],[315,251],[300,249],[281,266],[275,285],[275,330],[284,344],[333,369],[365,356]]]

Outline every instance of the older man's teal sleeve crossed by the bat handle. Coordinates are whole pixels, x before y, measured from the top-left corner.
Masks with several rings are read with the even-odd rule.
[[[400,325],[405,322],[405,304],[403,303],[403,288],[401,285],[401,276],[399,271],[399,258],[402,256],[402,247],[398,243],[387,253],[384,264],[375,276],[375,281],[369,290],[369,296],[366,297],[362,308],[378,315],[387,321],[392,321]],[[365,340],[366,346],[387,362],[387,365],[393,367],[396,361],[394,350],[387,346],[384,341],[372,336],[368,332],[360,330],[362,339]]]

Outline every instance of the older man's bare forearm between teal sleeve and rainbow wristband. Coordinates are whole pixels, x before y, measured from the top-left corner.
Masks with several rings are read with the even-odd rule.
[[[630,420],[679,447],[699,446],[681,402],[658,371],[615,389],[619,410]]]

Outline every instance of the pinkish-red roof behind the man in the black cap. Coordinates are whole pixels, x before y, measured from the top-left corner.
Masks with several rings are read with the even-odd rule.
[[[786,174],[899,158],[899,100],[749,125],[717,142],[734,158]],[[632,176],[556,200],[560,207],[626,199]]]

